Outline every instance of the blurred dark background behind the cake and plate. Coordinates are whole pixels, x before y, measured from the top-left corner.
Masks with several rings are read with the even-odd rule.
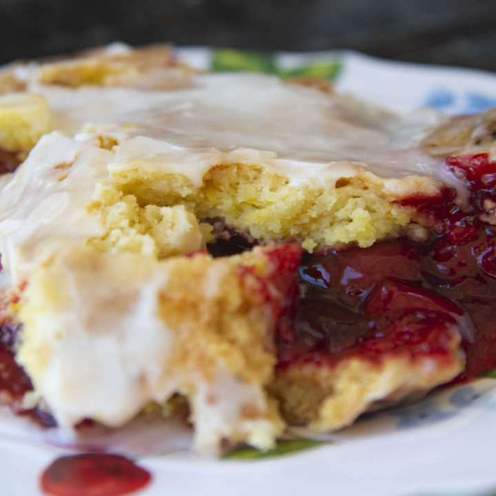
[[[352,48],[496,71],[496,0],[0,0],[0,63],[122,40]]]

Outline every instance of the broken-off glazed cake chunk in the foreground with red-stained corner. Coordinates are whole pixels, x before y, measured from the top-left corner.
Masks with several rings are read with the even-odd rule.
[[[266,388],[299,259],[298,245],[161,262],[60,247],[21,298],[17,359],[62,427],[122,426],[179,394],[196,450],[267,449],[285,426]]]

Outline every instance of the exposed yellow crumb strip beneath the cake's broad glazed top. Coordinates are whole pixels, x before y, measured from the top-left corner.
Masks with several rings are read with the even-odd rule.
[[[380,178],[361,174],[336,187],[291,185],[256,165],[218,165],[200,187],[180,174],[145,167],[111,172],[123,194],[139,205],[185,205],[200,220],[220,218],[259,242],[296,240],[308,251],[404,234],[414,210],[395,203]]]

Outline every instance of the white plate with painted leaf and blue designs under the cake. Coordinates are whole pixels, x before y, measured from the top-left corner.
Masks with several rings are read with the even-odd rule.
[[[431,106],[448,114],[496,107],[496,76],[475,70],[386,62],[353,52],[213,53],[180,58],[209,68],[282,75],[338,74],[340,92],[403,112]],[[339,69],[339,70],[338,70]],[[8,424],[8,422],[7,422]],[[0,494],[38,495],[43,468],[59,448],[0,423]],[[307,451],[257,459],[201,459],[187,452],[142,457],[152,472],[143,496],[477,496],[496,494],[496,380],[435,393],[409,408],[371,415]]]

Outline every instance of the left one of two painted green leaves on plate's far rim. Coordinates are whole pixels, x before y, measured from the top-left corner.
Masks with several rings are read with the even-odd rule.
[[[218,72],[278,72],[274,54],[229,49],[212,50],[211,69]]]

